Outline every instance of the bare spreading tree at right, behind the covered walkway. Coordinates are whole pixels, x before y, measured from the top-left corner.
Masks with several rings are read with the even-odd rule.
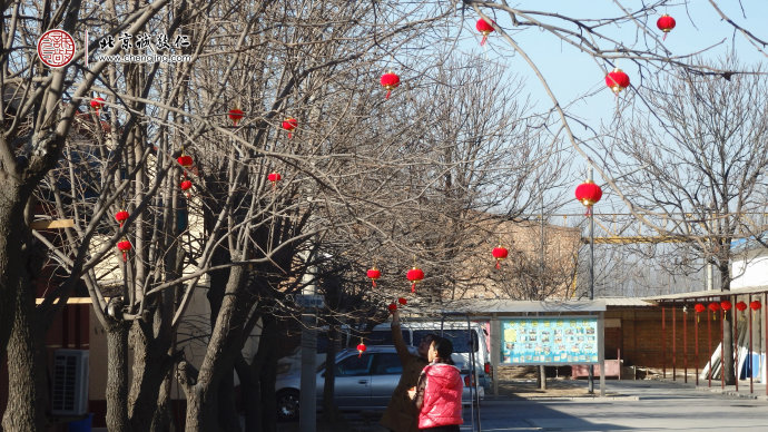
[[[739,68],[733,60],[718,67]],[[729,80],[680,73],[641,94],[650,110],[604,141],[605,163],[617,176],[627,173],[617,185],[634,210],[652,220],[656,233],[686,239],[680,248],[713,265],[727,292],[731,242],[754,234],[750,214],[766,203],[765,82],[759,70]],[[725,374],[732,383],[732,334],[725,327]]]

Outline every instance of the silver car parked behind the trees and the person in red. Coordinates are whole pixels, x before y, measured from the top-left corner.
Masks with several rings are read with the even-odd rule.
[[[415,355],[416,350],[413,348],[412,353]],[[397,352],[392,345],[370,346],[362,355],[356,350],[344,350],[336,355],[334,366],[334,401],[342,411],[384,411],[403,373]],[[462,370],[464,380],[462,402],[469,405],[477,391],[479,399],[483,399],[483,387],[470,386],[474,380],[471,380],[465,364],[459,363],[456,366]],[[277,376],[278,419],[298,418],[301,379],[301,371]],[[322,366],[316,379],[318,409],[322,408],[324,384],[325,366]]]

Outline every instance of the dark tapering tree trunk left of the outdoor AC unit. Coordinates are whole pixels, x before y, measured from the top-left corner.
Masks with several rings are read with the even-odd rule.
[[[8,342],[8,405],[2,418],[6,431],[42,431],[46,423],[47,382],[41,373],[46,357],[41,330],[35,320],[35,293],[30,282],[18,281],[16,313]]]

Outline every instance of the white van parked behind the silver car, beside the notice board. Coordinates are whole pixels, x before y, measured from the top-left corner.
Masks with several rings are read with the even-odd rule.
[[[453,362],[462,371],[472,369],[471,360],[474,360],[476,382],[491,391],[491,354],[488,350],[486,334],[479,323],[445,321],[413,321],[401,322],[401,331],[405,343],[419,346],[422,337],[427,334],[436,334],[447,337],[453,343]],[[367,345],[392,345],[391,323],[378,324],[373,327],[371,334],[365,337]],[[484,393],[484,392],[483,392]]]

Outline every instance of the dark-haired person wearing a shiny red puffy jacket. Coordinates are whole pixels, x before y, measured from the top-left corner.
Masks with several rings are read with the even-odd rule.
[[[464,423],[461,415],[463,390],[459,369],[453,365],[453,344],[436,337],[430,345],[427,359],[416,389],[408,392],[419,408],[419,430],[432,432],[459,432]]]

